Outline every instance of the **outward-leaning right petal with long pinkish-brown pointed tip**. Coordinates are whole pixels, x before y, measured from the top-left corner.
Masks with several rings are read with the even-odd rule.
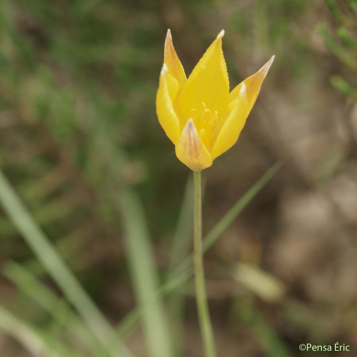
[[[260,92],[260,87],[262,86],[263,80],[265,79],[275,56],[272,56],[271,59],[266,62],[266,64],[255,74],[251,75],[250,77],[246,78],[243,82],[247,86],[247,98],[248,98],[248,107],[247,107],[247,116],[249,115],[252,107],[257,100],[258,94]],[[229,102],[236,100],[237,96],[239,95],[240,87],[242,82],[238,84],[235,89],[233,89],[229,94]]]

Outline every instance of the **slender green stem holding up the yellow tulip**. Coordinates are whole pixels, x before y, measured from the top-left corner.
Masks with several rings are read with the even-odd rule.
[[[205,285],[205,272],[203,270],[202,254],[202,198],[201,198],[201,172],[193,171],[195,185],[195,230],[193,235],[193,251],[195,256],[195,288],[198,320],[200,322],[201,336],[205,357],[215,357],[215,341],[213,338],[210,312],[208,311],[207,293]]]

